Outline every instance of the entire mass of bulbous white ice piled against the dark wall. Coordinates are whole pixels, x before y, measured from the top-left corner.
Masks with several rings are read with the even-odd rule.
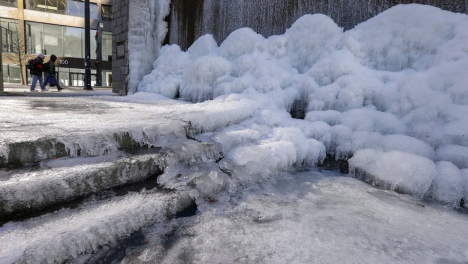
[[[219,146],[227,167],[268,174],[313,165],[326,150],[452,203],[468,197],[466,43],[467,15],[426,5],[394,6],[346,32],[306,15],[280,36],[242,28],[219,46],[211,35],[187,52],[164,46],[137,92],[259,102],[249,120],[199,137]],[[305,120],[288,113],[298,101]]]

